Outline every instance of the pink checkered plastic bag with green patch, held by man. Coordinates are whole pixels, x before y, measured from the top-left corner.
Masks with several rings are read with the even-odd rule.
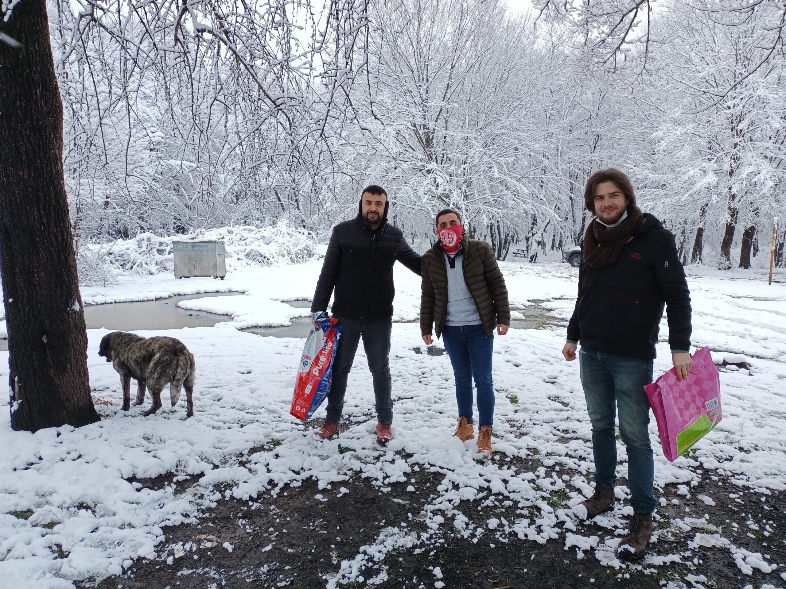
[[[672,368],[644,387],[658,423],[663,454],[670,462],[720,423],[721,379],[709,348],[693,354],[688,377],[678,381]]]

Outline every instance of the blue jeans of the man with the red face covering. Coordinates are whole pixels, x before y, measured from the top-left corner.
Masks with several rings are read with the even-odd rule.
[[[482,325],[446,325],[443,342],[456,380],[459,417],[472,423],[472,378],[478,390],[478,415],[481,426],[494,425],[494,382],[491,360],[494,357],[494,334],[483,334]]]

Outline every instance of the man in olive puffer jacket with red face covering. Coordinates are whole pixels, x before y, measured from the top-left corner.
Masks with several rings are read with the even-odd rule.
[[[478,452],[490,457],[494,327],[498,335],[508,331],[508,290],[494,251],[484,241],[464,238],[461,217],[455,210],[441,210],[436,229],[440,241],[421,262],[421,335],[427,345],[432,344],[432,328],[438,338],[443,336],[456,381],[459,418],[455,435],[462,441],[474,437],[474,378],[480,419]]]

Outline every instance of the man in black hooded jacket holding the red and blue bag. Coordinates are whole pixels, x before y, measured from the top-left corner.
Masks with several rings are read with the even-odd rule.
[[[325,425],[317,432],[322,438],[339,433],[347,376],[363,338],[374,382],[376,439],[382,445],[393,439],[392,382],[387,365],[395,295],[393,265],[398,260],[420,276],[421,256],[406,243],[401,229],[387,223],[389,206],[384,188],[371,185],[363,190],[358,216],[333,228],[314,291],[312,316],[327,310],[335,291],[331,311],[342,327]]]

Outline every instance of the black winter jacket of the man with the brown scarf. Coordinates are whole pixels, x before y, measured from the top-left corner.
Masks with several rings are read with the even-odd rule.
[[[612,265],[593,268],[582,263],[567,340],[620,356],[652,359],[664,303],[671,349],[688,351],[691,306],[685,270],[674,236],[647,214]]]

